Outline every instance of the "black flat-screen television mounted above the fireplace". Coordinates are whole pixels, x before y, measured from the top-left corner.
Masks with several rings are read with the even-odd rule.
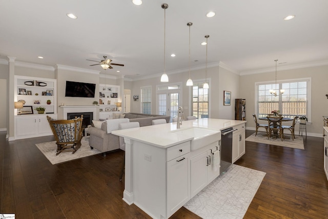
[[[66,81],[65,96],[94,98],[95,90],[96,84]]]

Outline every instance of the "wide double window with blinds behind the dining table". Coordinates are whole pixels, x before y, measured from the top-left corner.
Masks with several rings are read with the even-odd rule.
[[[283,117],[294,116],[311,117],[311,78],[301,78],[272,83],[256,83],[255,109],[258,117],[265,117],[273,110],[279,110]],[[277,96],[272,95],[269,90],[276,90]],[[284,93],[280,93],[280,89]]]

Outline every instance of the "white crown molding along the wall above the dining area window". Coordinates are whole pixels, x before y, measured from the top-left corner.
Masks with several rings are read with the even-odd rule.
[[[325,65],[328,65],[328,60],[311,62],[311,63],[294,64],[288,66],[280,66],[277,67],[277,71],[300,69],[300,68],[311,68],[311,67],[325,66]],[[251,70],[251,71],[242,71],[240,72],[240,75],[261,74],[261,73],[274,72],[275,70],[276,68],[273,67],[273,68],[264,68],[264,69]]]

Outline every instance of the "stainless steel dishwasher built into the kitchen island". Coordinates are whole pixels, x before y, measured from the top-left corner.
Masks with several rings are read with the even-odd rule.
[[[220,174],[226,172],[232,162],[232,133],[237,129],[229,128],[221,130],[221,167]]]

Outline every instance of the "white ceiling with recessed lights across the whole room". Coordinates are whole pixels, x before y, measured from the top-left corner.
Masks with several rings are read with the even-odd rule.
[[[237,73],[328,61],[326,0],[0,0],[0,58],[105,73],[103,55],[113,63],[106,74],[137,78],[163,72],[164,9],[167,73],[219,62]],[[212,18],[209,11],[216,12]],[[74,13],[77,19],[66,16]],[[287,15],[295,14],[290,21]],[[175,53],[176,57],[170,54]],[[39,59],[37,56],[43,56]],[[198,60],[198,62],[195,62]],[[119,70],[120,73],[117,73]],[[279,69],[278,69],[279,70]]]

